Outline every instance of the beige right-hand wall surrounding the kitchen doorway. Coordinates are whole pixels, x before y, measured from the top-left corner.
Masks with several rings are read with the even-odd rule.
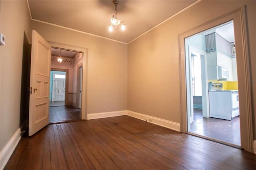
[[[256,1],[201,1],[128,44],[128,110],[180,123],[179,35],[243,5],[256,101]],[[253,105],[254,139],[255,110]]]

